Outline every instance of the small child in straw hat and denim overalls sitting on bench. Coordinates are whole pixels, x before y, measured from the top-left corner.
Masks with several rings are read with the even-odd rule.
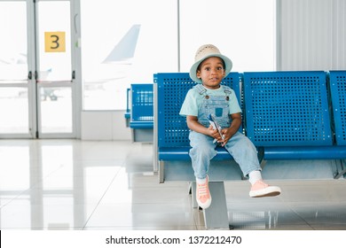
[[[248,175],[252,185],[250,197],[271,197],[281,192],[279,187],[263,182],[256,147],[247,136],[238,132],[241,110],[237,97],[231,88],[220,85],[231,69],[231,59],[222,55],[216,46],[202,45],[190,69],[190,77],[200,84],[187,92],[179,113],[186,117],[190,128],[192,149],[189,154],[196,177],[196,199],[204,209],[211,204],[208,167],[210,159],[216,156],[216,145],[223,146],[240,165],[242,173]],[[223,136],[209,124],[208,114],[215,116]]]

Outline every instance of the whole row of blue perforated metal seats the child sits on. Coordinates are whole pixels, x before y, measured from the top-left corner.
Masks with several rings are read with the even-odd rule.
[[[182,73],[154,74],[154,82],[153,153],[159,181],[193,182],[189,130],[178,113],[195,82]],[[237,94],[243,132],[256,145],[264,178],[338,179],[346,174],[345,71],[232,73],[223,83]],[[203,211],[207,229],[227,229],[224,181],[244,178],[231,155],[216,149],[208,172],[213,203]]]

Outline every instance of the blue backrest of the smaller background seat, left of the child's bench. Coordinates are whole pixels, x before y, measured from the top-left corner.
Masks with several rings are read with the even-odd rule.
[[[131,121],[153,121],[153,83],[131,84]]]

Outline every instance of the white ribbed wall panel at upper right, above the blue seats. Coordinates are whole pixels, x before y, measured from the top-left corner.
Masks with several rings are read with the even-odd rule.
[[[346,69],[346,1],[277,1],[277,70]]]

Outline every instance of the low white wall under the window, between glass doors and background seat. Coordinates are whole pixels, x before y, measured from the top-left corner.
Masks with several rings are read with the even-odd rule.
[[[82,140],[130,140],[124,111],[83,111],[81,114]]]

